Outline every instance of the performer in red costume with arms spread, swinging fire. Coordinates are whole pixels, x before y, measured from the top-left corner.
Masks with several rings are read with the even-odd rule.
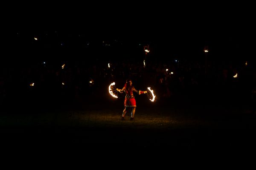
[[[122,89],[116,88],[116,91],[119,91],[120,93],[125,92],[125,109],[122,112],[121,120],[125,119],[125,114],[127,112],[128,108],[131,108],[131,119],[134,120],[134,114],[136,110],[136,100],[134,98],[133,92],[136,92],[137,94],[146,94],[148,91],[137,91],[134,86],[132,85],[131,79],[127,79],[124,87]]]

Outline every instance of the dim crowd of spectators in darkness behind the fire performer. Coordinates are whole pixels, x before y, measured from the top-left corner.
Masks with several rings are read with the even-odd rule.
[[[249,99],[256,85],[254,64],[240,63],[239,67],[232,63],[208,65],[207,74],[204,64],[186,59],[149,60],[145,67],[139,59],[15,64],[1,70],[0,101],[3,104],[43,99],[50,103],[99,98],[111,82],[122,86],[127,78],[133,79],[139,87],[153,88],[158,100],[200,95],[216,99],[223,96]]]

